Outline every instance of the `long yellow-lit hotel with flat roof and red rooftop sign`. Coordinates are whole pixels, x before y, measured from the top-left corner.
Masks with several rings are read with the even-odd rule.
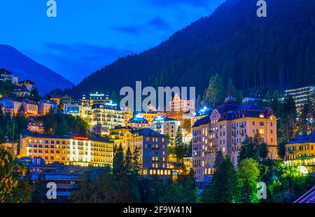
[[[22,157],[40,157],[46,163],[106,167],[113,165],[113,142],[90,137],[27,136],[20,141]]]

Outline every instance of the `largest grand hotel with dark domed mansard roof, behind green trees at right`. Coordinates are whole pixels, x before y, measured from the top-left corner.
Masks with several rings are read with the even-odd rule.
[[[259,132],[267,144],[269,158],[278,158],[276,117],[270,108],[241,106],[233,97],[225,99],[210,116],[197,120],[193,126],[193,168],[197,181],[207,181],[214,173],[218,150],[229,155],[237,166],[241,144],[246,137]]]

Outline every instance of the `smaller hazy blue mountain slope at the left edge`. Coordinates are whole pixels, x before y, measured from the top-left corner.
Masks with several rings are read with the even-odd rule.
[[[0,45],[0,68],[8,69],[19,80],[32,80],[41,94],[45,94],[56,88],[72,87],[66,78],[55,71],[38,64],[29,57],[8,45]]]

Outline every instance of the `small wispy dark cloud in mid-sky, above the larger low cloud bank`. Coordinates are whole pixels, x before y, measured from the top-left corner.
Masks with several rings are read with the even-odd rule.
[[[153,18],[148,22],[139,25],[128,25],[120,27],[109,27],[109,30],[117,31],[123,34],[139,35],[148,33],[148,31],[172,31],[172,26],[162,18]]]

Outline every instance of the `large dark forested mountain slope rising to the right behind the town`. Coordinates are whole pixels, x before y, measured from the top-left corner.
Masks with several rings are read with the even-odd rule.
[[[66,92],[119,92],[142,80],[196,86],[202,94],[214,73],[232,78],[239,90],[315,83],[315,1],[267,0],[267,18],[257,17],[256,3],[228,0],[155,48],[120,58]]]

